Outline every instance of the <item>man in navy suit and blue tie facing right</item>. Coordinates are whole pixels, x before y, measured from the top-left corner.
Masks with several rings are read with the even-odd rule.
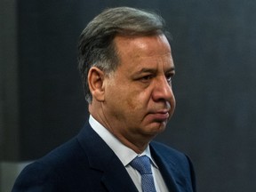
[[[12,191],[196,191],[188,157],[151,141],[175,108],[164,20],[128,7],[101,12],[84,28],[78,60],[89,123],[28,165]]]

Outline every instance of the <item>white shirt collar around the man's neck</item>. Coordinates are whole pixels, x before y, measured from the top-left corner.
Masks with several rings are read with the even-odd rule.
[[[108,147],[111,148],[116,156],[120,159],[124,166],[130,164],[133,158],[136,156],[148,156],[151,163],[157,168],[157,165],[150,154],[149,145],[141,154],[135,153],[132,148],[126,147],[120,140],[118,140],[111,132],[108,131],[102,124],[100,124],[92,115],[89,117],[89,124],[92,129],[100,135],[100,138],[104,140]]]

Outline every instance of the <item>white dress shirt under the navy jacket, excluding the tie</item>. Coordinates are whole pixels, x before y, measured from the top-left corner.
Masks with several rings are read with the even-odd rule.
[[[92,115],[89,118],[89,123],[91,124],[92,129],[100,135],[100,138],[108,144],[109,148],[111,148],[115,152],[116,156],[118,156],[122,164],[124,164],[125,169],[129,173],[132,181],[134,182],[136,188],[138,188],[139,192],[142,192],[140,172],[132,168],[130,162],[136,156],[144,155],[148,156],[151,160],[151,169],[154,177],[156,191],[168,192],[168,188],[164,183],[164,179],[154,159],[151,157],[149,146],[145,149],[145,151],[143,151],[143,153],[137,154],[131,148],[124,146],[124,144],[120,142],[120,140],[117,140],[116,137],[111,132],[108,132],[108,129],[102,126],[102,124],[94,119]]]

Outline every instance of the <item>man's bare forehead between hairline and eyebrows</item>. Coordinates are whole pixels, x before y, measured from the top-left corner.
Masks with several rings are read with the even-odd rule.
[[[122,68],[132,70],[159,64],[173,68],[171,46],[164,35],[116,36],[114,42]]]

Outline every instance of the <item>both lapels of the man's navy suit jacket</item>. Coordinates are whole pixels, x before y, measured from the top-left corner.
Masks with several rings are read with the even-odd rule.
[[[108,191],[138,191],[122,162],[105,141],[92,130],[90,124],[84,125],[77,139],[84,153],[87,154],[91,169],[101,172],[101,181]],[[186,181],[179,178],[180,171],[177,168],[179,164],[172,161],[172,156],[162,149],[155,142],[150,143],[151,156],[156,161],[167,188],[172,192],[187,191]]]

